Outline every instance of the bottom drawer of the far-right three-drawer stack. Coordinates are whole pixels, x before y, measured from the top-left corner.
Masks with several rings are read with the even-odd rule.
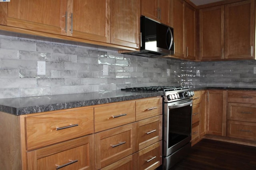
[[[256,140],[256,123],[228,121],[228,137]]]

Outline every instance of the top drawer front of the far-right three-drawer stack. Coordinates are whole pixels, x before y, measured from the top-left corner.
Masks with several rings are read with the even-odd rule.
[[[228,91],[228,102],[254,104],[255,101],[255,91]]]

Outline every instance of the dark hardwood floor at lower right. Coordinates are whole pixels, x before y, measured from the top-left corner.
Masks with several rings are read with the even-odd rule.
[[[256,147],[202,139],[171,170],[256,170]]]

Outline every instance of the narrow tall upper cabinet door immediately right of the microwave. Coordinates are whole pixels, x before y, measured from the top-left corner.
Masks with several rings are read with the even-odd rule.
[[[172,26],[174,27],[174,56],[184,57],[184,1],[172,1]]]

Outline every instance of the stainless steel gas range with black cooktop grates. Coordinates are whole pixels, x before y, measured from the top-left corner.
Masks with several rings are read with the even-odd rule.
[[[163,166],[168,170],[191,148],[192,97],[188,87],[149,86],[126,88],[129,91],[163,92]]]

